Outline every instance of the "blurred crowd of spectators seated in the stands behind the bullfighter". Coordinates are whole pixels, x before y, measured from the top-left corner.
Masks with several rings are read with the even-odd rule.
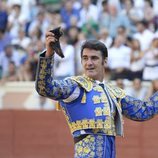
[[[109,52],[107,79],[157,82],[157,0],[0,0],[0,83],[34,81],[45,32],[59,26],[56,78],[82,74],[80,46],[98,39]]]

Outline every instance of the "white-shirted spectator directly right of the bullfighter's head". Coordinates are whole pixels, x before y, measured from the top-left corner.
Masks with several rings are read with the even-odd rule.
[[[108,66],[111,70],[111,79],[130,79],[130,53],[131,49],[124,45],[122,36],[114,39],[114,44],[109,49]]]

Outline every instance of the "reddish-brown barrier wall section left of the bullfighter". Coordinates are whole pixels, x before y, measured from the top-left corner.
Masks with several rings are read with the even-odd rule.
[[[0,158],[71,158],[64,116],[54,111],[0,111]]]

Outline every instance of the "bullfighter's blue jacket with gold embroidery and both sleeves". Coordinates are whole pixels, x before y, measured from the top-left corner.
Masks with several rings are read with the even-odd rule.
[[[86,76],[54,80],[52,69],[52,58],[42,53],[36,90],[42,96],[59,101],[73,136],[88,129],[106,135],[123,135],[123,115],[143,121],[158,113],[158,92],[145,102],[126,96],[123,90],[110,83],[102,88]]]

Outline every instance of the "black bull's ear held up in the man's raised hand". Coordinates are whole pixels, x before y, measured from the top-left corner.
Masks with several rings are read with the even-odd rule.
[[[57,39],[56,42],[53,42],[51,45],[54,49],[54,51],[61,57],[64,58],[64,54],[63,51],[61,50],[61,46],[60,46],[60,37],[64,34],[63,30],[61,27],[57,27],[53,30],[50,30],[50,32],[54,33],[55,38]]]

